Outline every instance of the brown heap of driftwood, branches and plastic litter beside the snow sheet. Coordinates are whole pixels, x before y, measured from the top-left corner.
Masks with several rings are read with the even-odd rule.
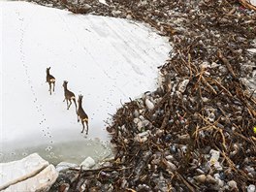
[[[256,13],[235,0],[83,3],[150,24],[174,49],[158,88],[113,115],[114,159],[69,170],[69,188],[255,191]]]

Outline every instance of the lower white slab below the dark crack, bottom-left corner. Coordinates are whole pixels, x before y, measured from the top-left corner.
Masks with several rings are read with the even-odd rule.
[[[48,191],[50,186],[55,182],[58,173],[53,165],[49,165],[38,175],[27,178],[9,186],[4,192],[13,191]]]

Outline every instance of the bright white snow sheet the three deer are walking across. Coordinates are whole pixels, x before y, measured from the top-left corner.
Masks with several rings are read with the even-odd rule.
[[[18,148],[43,144],[49,152],[57,143],[107,141],[105,121],[129,97],[155,89],[157,66],[171,50],[166,38],[126,19],[80,16],[14,1],[1,1],[0,12],[0,162]],[[56,79],[52,95],[46,83],[49,66]],[[74,104],[67,111],[63,102],[63,80],[77,99],[83,95],[87,137],[80,134]],[[76,147],[70,150],[81,145]]]

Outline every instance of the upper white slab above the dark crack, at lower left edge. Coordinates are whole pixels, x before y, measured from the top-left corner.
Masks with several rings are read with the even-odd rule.
[[[48,165],[48,161],[44,160],[37,153],[28,155],[21,160],[1,163],[0,190],[16,184],[18,181],[37,175]]]

